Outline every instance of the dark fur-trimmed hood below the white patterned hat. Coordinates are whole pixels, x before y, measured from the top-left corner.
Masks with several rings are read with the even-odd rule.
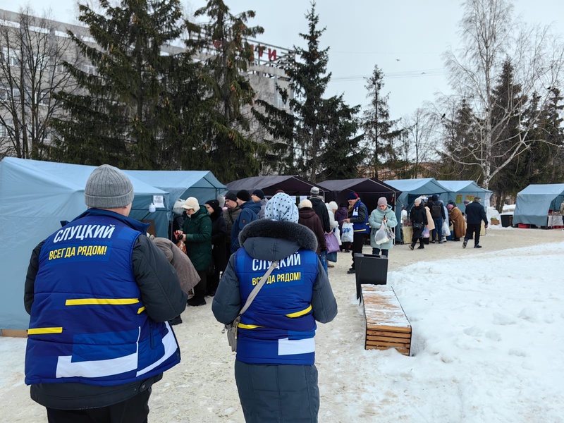
[[[255,259],[278,260],[300,249],[317,250],[317,238],[303,225],[259,219],[239,233],[239,243]]]

